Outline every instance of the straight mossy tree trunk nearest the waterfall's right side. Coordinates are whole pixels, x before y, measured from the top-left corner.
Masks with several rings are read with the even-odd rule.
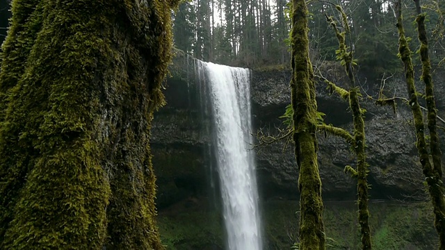
[[[325,249],[321,178],[318,173],[314,73],[309,60],[305,0],[292,1],[292,69],[291,103],[293,112],[293,140],[300,168],[300,249]]]

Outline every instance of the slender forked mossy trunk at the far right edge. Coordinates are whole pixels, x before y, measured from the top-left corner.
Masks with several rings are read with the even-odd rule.
[[[411,51],[405,38],[403,28],[403,17],[401,10],[401,1],[396,3],[397,12],[397,28],[399,35],[398,52],[405,66],[405,77],[407,90],[409,94],[409,105],[414,117],[414,129],[416,132],[416,148],[419,152],[420,163],[422,165],[423,175],[428,185],[428,192],[431,197],[433,212],[435,214],[435,228],[439,234],[439,249],[445,249],[445,199],[444,186],[442,183],[442,153],[439,149],[439,138],[437,135],[436,119],[437,111],[435,108],[434,92],[432,78],[430,76],[430,60],[428,56],[428,40],[425,28],[425,14],[421,13],[419,0],[416,3],[417,28],[419,32],[419,40],[421,42],[421,61],[422,61],[422,78],[426,85],[426,105],[428,109],[428,130],[430,132],[430,152],[428,152],[428,143],[425,137],[425,126],[423,124],[423,114],[417,99],[417,92],[414,85],[414,67],[412,65]],[[432,163],[430,161],[432,156]]]

